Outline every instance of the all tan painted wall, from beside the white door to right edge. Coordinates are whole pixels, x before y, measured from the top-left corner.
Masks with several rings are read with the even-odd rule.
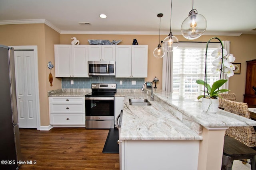
[[[164,39],[167,35],[161,35]],[[132,45],[133,39],[137,39],[139,45],[148,45],[148,78],[152,81],[156,76],[160,82],[158,88],[162,87],[162,59],[153,56],[153,50],[158,45],[158,35],[85,35],[85,34],[59,34],[47,25],[40,24],[13,24],[0,25],[0,44],[2,45],[37,45],[38,46],[38,76],[39,76],[39,96],[40,96],[40,119],[41,126],[49,125],[48,90],[61,88],[61,79],[55,78],[54,68],[51,70],[53,75],[53,86],[50,87],[48,76],[50,70],[47,63],[54,63],[54,44],[71,44],[72,37],[76,37],[80,44],[88,44],[88,39],[108,39],[119,40],[119,45]],[[176,35],[179,41],[188,41],[182,35]],[[215,36],[206,36],[194,41],[208,41]],[[229,40],[230,53],[236,57],[235,63],[241,63],[241,74],[235,74],[230,78],[230,92],[237,95],[238,101],[243,101],[246,79],[246,61],[256,59],[256,35],[217,36],[221,40]],[[213,41],[211,41],[213,42]]]

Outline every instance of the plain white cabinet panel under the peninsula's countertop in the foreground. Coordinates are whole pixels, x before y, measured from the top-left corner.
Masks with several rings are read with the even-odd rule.
[[[198,140],[122,140],[121,145],[122,170],[198,169]]]

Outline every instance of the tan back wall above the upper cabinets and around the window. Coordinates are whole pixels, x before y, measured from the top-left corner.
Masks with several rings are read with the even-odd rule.
[[[161,35],[163,40],[167,35]],[[134,38],[138,40],[139,45],[148,45],[148,78],[146,81],[152,81],[156,76],[160,82],[157,82],[159,89],[162,88],[162,59],[156,59],[153,56],[154,48],[157,47],[159,35],[85,35],[85,34],[61,34],[61,44],[71,44],[71,37],[76,37],[80,44],[89,44],[88,39],[107,39],[109,41],[122,39],[118,45],[132,45]],[[188,41],[182,35],[176,35],[179,41]],[[234,74],[230,78],[230,93],[235,93],[239,102],[244,100],[245,81],[246,81],[246,61],[256,59],[256,35],[240,35],[234,36],[208,36],[202,37],[194,41],[207,42],[212,37],[218,37],[222,41],[230,41],[230,53],[236,57],[235,63],[241,63],[241,74]],[[212,40],[211,42],[214,42]],[[216,41],[218,42],[218,41]]]

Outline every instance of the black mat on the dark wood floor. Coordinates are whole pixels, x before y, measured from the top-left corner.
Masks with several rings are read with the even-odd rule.
[[[119,153],[119,145],[117,143],[117,140],[118,140],[118,129],[109,129],[108,137],[102,152],[103,153]]]

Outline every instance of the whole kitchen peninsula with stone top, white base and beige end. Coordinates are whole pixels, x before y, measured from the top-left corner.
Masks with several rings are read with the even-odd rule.
[[[256,121],[219,109],[203,113],[201,103],[154,89],[118,90],[124,96],[120,141],[122,169],[221,169],[225,130],[255,126]],[[129,98],[146,98],[151,106],[131,106]]]

